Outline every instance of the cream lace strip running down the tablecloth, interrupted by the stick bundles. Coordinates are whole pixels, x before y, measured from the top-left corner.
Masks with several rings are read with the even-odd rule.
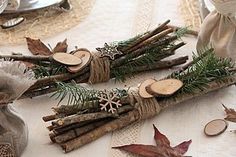
[[[151,24],[153,11],[155,6],[155,0],[139,0],[136,19],[134,22],[133,34],[139,34],[148,30]],[[111,147],[121,146],[127,144],[138,143],[140,140],[140,134],[144,122],[137,122],[121,130],[115,131],[112,134]],[[111,157],[134,157],[130,153],[126,153],[119,150],[110,150],[109,156]]]

